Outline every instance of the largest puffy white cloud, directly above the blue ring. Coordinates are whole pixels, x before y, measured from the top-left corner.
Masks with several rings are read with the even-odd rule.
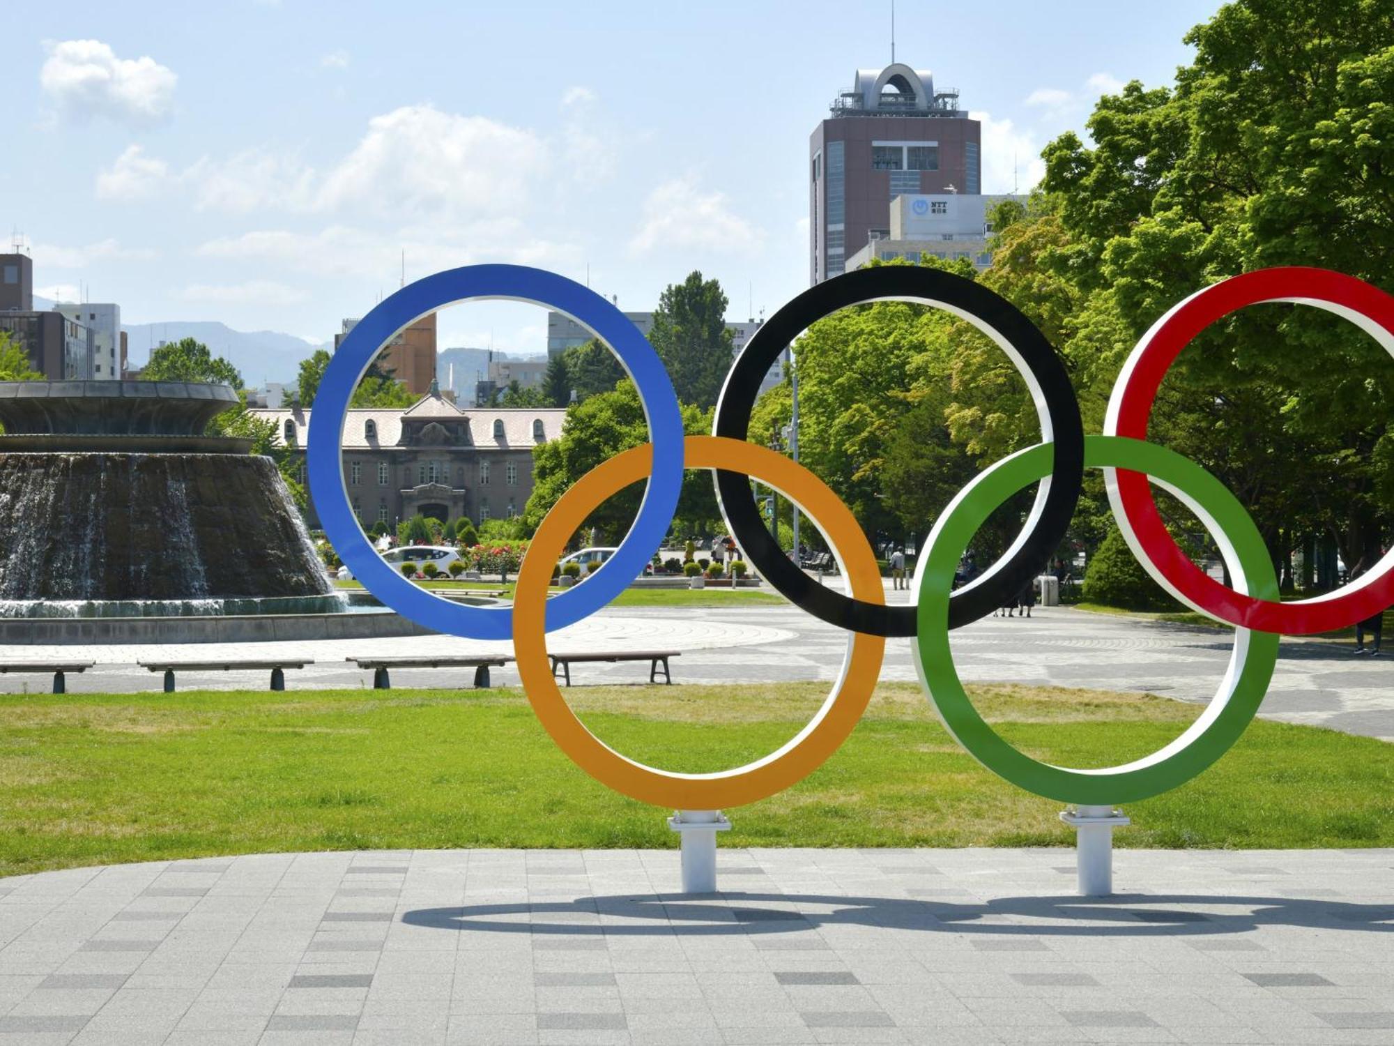
[[[403,106],[368,121],[368,132],[325,177],[318,206],[358,204],[395,216],[516,212],[545,158],[531,131]]]

